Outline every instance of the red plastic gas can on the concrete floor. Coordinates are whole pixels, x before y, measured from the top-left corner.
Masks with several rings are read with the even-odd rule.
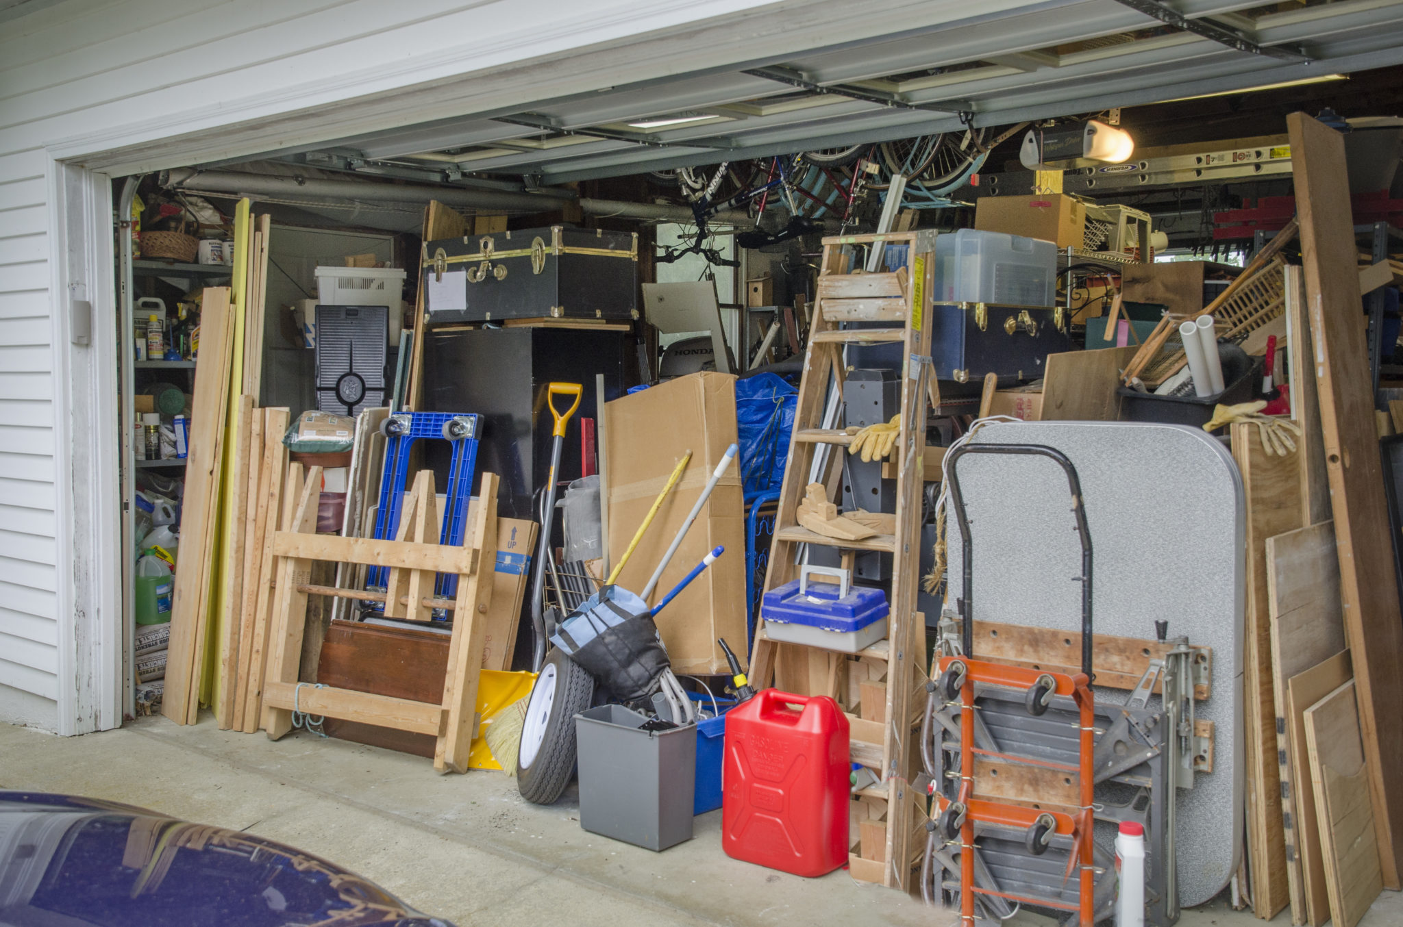
[[[794,875],[847,862],[847,717],[826,696],[766,689],[725,715],[721,846]]]

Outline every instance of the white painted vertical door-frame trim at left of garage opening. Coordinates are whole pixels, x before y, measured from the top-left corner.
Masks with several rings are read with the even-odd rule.
[[[55,410],[58,732],[122,724],[116,300],[109,180],[52,157],[51,337]],[[91,344],[70,341],[70,300],[93,306]],[[66,572],[70,568],[72,572]]]

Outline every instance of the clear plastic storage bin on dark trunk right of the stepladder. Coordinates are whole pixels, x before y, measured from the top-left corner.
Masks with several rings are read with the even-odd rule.
[[[1056,245],[1002,231],[936,237],[936,302],[1052,306]]]

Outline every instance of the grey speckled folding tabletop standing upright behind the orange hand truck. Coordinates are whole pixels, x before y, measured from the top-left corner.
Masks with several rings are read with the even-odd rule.
[[[1237,868],[1242,757],[1237,676],[1243,609],[1243,494],[1237,468],[1202,429],[1141,422],[996,422],[978,442],[1049,445],[1078,468],[1093,539],[1097,634],[1169,635],[1212,648],[1212,696],[1197,703],[1221,747],[1212,773],[1179,792],[1180,902],[1218,895]],[[1076,631],[1082,554],[1062,470],[1037,457],[965,457],[974,519],[976,620]],[[1146,539],[1155,539],[1146,555]],[[1193,539],[1193,540],[1190,540]],[[951,596],[962,595],[960,526],[950,519]],[[1186,582],[1193,576],[1193,582]],[[975,652],[978,656],[978,649]],[[1106,704],[1128,693],[1097,687]],[[1153,704],[1153,700],[1152,700]],[[1108,844],[1107,844],[1108,846]]]

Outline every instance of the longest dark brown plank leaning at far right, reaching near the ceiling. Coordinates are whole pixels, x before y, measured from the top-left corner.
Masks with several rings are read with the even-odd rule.
[[[1360,320],[1360,275],[1343,136],[1303,112],[1287,116],[1301,223],[1320,431],[1340,555],[1344,631],[1354,654],[1360,733],[1385,888],[1399,889],[1403,857],[1403,618],[1374,388]]]

